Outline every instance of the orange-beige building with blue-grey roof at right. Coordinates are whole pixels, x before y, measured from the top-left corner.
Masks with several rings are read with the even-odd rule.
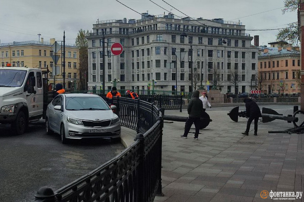
[[[301,82],[300,51],[285,41],[269,43],[270,47],[260,46],[258,53],[257,88],[263,93],[298,94]],[[259,84],[260,83],[260,84]]]

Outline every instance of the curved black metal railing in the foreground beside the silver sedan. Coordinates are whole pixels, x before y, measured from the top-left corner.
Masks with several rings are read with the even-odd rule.
[[[102,96],[103,97],[103,96]],[[121,125],[136,130],[135,141],[94,171],[53,192],[41,187],[35,201],[152,202],[161,192],[163,119],[153,103],[113,98]]]

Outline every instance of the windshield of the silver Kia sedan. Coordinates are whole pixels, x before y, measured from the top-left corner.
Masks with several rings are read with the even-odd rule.
[[[100,97],[66,97],[66,110],[110,110]]]

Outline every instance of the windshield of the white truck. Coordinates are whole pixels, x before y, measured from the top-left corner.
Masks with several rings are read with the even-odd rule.
[[[0,69],[0,87],[20,87],[25,76],[25,70]]]

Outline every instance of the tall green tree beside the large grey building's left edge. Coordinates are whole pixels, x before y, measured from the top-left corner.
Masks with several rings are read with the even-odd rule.
[[[88,40],[86,37],[90,35],[87,30],[80,29],[76,38],[76,46],[79,48],[79,90],[87,90],[88,82]]]

